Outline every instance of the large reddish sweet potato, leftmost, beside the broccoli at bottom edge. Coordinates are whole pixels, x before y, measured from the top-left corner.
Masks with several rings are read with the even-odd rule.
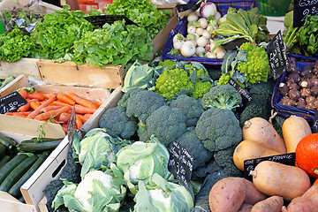
[[[246,196],[243,178],[223,178],[216,182],[208,194],[211,212],[239,211]]]

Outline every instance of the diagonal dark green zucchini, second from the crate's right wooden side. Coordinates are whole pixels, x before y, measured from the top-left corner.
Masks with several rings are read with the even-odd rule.
[[[21,178],[28,169],[35,163],[35,161],[39,158],[38,155],[32,155],[27,157],[22,163],[19,163],[14,170],[11,170],[10,174],[4,178],[4,181],[0,185],[0,191],[8,192],[15,183],[18,182],[19,178]]]

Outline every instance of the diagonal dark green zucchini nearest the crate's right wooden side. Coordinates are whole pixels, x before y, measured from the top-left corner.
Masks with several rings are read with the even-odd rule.
[[[18,182],[16,182],[13,186],[11,186],[8,193],[10,193],[15,198],[19,198],[19,196],[22,195],[19,188],[27,181],[28,178],[30,178],[35,170],[37,170],[41,164],[45,161],[45,159],[49,156],[49,151],[45,151],[42,153],[42,155],[39,156],[39,158],[36,160],[36,162],[31,166],[29,170],[21,177],[19,178]]]

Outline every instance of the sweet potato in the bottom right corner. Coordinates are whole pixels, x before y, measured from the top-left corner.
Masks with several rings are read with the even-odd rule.
[[[292,199],[289,205],[282,208],[283,212],[317,212],[318,211],[318,185],[311,186],[306,193]]]

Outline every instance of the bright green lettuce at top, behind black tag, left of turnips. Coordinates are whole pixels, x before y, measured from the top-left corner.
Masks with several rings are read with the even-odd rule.
[[[163,31],[169,21],[169,11],[158,11],[156,5],[148,0],[114,0],[106,7],[108,15],[125,15],[139,27],[144,27],[153,39]]]

